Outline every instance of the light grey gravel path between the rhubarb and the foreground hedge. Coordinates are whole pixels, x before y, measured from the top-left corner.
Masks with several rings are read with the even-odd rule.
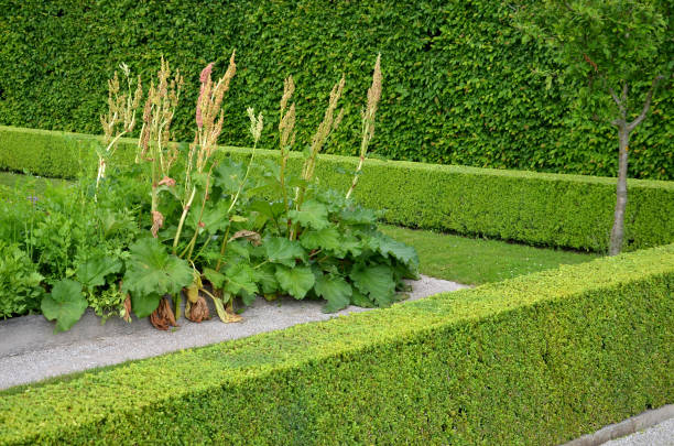
[[[423,275],[410,284],[410,300],[466,287]],[[289,297],[267,302],[259,297],[242,314],[240,323],[222,324],[211,308],[210,314],[215,317],[210,320],[194,324],[181,319],[181,327],[174,331],[156,330],[148,319],[127,324],[112,318],[101,326],[100,319],[90,312],[69,331],[57,335],[53,333],[54,324],[43,316],[0,320],[0,389],[368,311],[349,306],[326,314],[322,311],[323,305],[319,301]]]

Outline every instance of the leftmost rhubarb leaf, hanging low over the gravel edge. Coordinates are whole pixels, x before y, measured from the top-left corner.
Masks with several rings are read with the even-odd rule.
[[[87,309],[81,284],[69,279],[59,281],[52,289],[52,293],[43,297],[41,308],[48,320],[56,319],[54,331],[70,329]]]

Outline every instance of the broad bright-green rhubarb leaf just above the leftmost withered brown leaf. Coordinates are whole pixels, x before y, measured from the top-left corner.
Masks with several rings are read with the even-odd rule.
[[[193,281],[193,270],[187,262],[168,254],[166,247],[156,239],[139,240],[130,251],[124,289],[132,295],[175,294]]]

